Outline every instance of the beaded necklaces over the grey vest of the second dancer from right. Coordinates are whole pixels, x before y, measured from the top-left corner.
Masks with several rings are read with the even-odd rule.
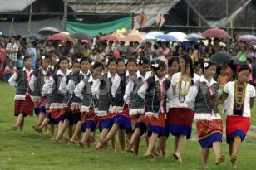
[[[217,107],[217,89],[215,85],[212,85],[213,91],[211,91],[210,86],[206,85],[205,82],[200,82],[200,89],[202,90],[204,104],[214,114],[214,109]]]

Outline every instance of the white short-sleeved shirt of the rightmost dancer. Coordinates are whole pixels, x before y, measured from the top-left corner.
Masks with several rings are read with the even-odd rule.
[[[228,94],[228,98],[224,103],[225,112],[227,115],[233,115],[234,109],[234,81],[230,81],[224,86],[224,93]],[[247,84],[244,99],[244,117],[251,117],[250,99],[255,97],[255,89],[253,85]]]

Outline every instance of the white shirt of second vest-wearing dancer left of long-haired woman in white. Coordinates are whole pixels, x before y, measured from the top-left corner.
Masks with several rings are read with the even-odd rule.
[[[149,74],[145,74],[145,76],[142,76],[140,74],[140,70],[137,71],[136,73],[137,75],[137,79],[140,79],[145,82],[145,80],[147,80],[149,78]],[[134,88],[134,81],[133,80],[129,80],[128,84],[126,85],[126,92],[125,92],[125,95],[124,95],[124,100],[126,101],[127,104],[130,103],[130,94],[131,92],[133,91],[133,88]]]

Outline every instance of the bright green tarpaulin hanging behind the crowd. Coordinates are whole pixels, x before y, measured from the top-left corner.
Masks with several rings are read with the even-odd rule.
[[[63,25],[63,22],[62,22]],[[86,32],[91,36],[96,36],[101,33],[115,32],[117,29],[126,28],[131,29],[131,17],[124,17],[111,22],[103,22],[96,24],[86,24],[81,22],[66,22],[66,31],[73,32]]]

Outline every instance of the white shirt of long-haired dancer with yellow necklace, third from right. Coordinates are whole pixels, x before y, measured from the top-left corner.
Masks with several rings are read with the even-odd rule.
[[[175,89],[171,88],[172,90],[172,96],[168,97],[170,99],[170,108],[188,108],[187,104],[181,103],[180,100],[183,101],[183,97],[180,96],[180,100],[179,100],[179,80],[180,80],[180,74],[181,72],[175,73],[172,76],[171,79],[171,85],[175,87]],[[200,79],[200,76],[194,73],[194,77],[193,77],[193,81],[194,83]],[[187,87],[189,85],[188,81],[184,81],[182,80],[181,82],[181,91],[185,92],[185,86]],[[175,90],[175,91],[174,91]],[[187,98],[188,94],[185,95],[185,100]]]

